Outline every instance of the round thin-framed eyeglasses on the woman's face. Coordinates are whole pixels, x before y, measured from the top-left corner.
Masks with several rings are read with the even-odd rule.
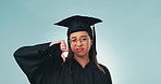
[[[79,41],[82,44],[87,44],[89,38],[81,38],[81,39],[71,39],[69,40],[71,45],[76,45],[76,43]]]

